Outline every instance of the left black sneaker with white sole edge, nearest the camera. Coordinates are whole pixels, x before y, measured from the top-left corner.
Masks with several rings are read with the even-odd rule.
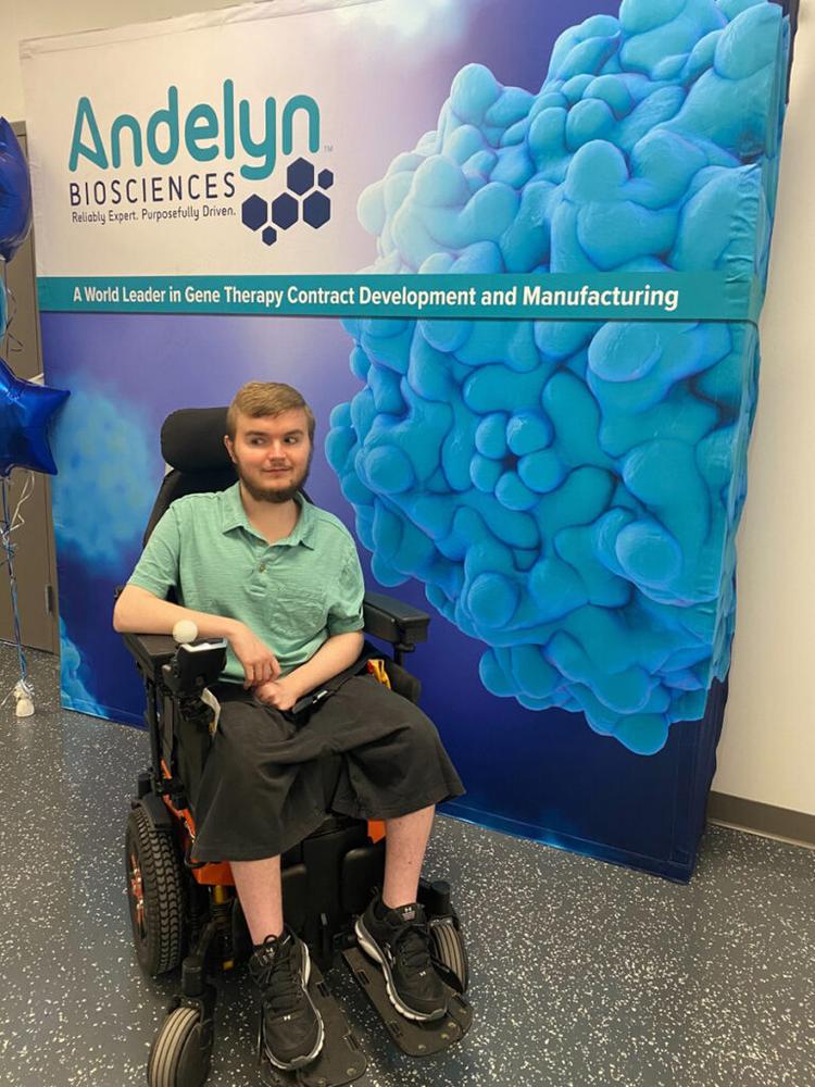
[[[301,1069],[323,1048],[323,1020],[309,995],[309,949],[286,928],[267,936],[249,960],[261,990],[266,1057],[278,1069]]]

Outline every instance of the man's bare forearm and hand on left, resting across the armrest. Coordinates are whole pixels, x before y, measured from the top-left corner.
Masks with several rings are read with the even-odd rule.
[[[138,585],[126,585],[113,609],[113,628],[120,634],[172,634],[179,619],[192,620],[202,638],[226,638],[229,641],[243,666],[244,687],[268,683],[280,674],[280,665],[268,646],[238,620],[183,608],[170,600],[161,600]]]

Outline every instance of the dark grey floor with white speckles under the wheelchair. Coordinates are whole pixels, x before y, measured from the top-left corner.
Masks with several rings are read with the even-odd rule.
[[[30,653],[37,713],[0,710],[0,1082],[145,1083],[174,979],[133,952],[122,838],[143,733],[60,710]],[[0,646],[0,696],[16,658]],[[439,819],[427,871],[456,890],[476,1023],[443,1058],[387,1041],[331,980],[374,1087],[813,1087],[815,852],[711,827],[689,887]],[[243,972],[226,982],[209,1084],[258,1083]]]

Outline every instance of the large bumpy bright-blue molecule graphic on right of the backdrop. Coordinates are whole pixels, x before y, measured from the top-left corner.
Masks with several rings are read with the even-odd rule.
[[[377,273],[766,277],[788,35],[765,0],[624,0],[538,93],[459,73],[362,195]],[[749,324],[347,322],[328,459],[373,571],[480,639],[485,687],[641,754],[729,666]]]

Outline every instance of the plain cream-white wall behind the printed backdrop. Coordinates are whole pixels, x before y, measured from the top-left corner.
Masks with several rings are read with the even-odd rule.
[[[405,0],[409,2],[409,0]],[[0,114],[24,120],[17,43],[223,0],[0,0]],[[785,136],[761,404],[740,534],[739,622],[714,788],[815,815],[815,26],[804,0]]]

